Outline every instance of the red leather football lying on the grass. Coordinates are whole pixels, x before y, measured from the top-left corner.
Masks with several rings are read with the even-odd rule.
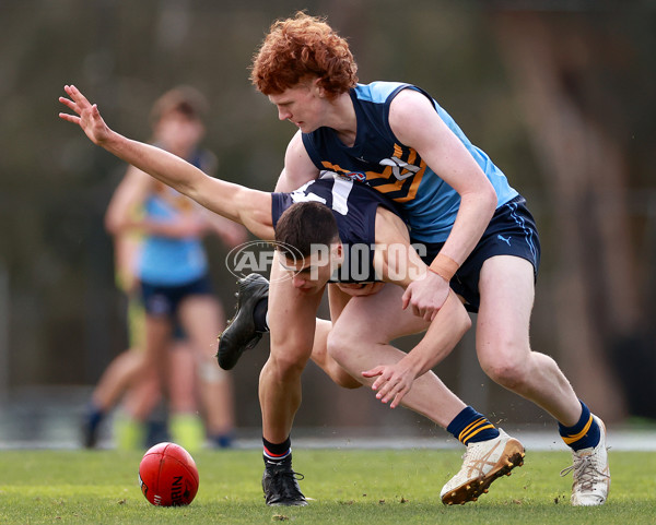
[[[153,505],[188,505],[198,492],[198,468],[180,445],[160,443],[143,455],[139,485]]]

